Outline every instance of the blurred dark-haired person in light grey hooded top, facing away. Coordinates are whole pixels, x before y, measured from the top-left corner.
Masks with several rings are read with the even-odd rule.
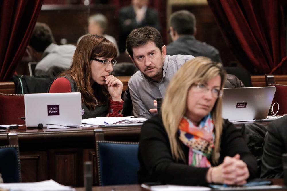
[[[35,76],[49,76],[55,74],[54,70],[67,70],[71,66],[76,46],[55,44],[50,27],[37,22],[27,49],[32,59],[39,61]]]

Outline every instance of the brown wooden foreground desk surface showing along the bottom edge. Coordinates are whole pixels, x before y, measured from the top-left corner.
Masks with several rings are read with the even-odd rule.
[[[270,179],[272,180],[274,185],[283,185],[283,179]],[[132,184],[132,185],[121,185],[121,186],[96,186],[93,187],[93,191],[146,191],[147,189],[141,188],[140,184]],[[286,189],[282,189],[286,190]],[[76,191],[85,191],[85,188],[76,188]]]

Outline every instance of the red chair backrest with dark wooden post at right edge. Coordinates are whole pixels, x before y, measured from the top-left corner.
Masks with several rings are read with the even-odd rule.
[[[265,75],[265,80],[266,80],[266,86],[276,87],[276,92],[274,94],[272,105],[277,102],[279,104],[279,110],[278,105],[274,105],[273,112],[276,112],[278,110],[277,113],[278,115],[287,114],[287,102],[286,102],[287,85],[276,84],[273,75]],[[273,114],[272,111],[271,114]]]

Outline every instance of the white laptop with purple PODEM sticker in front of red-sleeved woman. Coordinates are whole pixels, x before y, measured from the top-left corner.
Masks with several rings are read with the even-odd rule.
[[[81,125],[81,93],[25,94],[26,127]]]

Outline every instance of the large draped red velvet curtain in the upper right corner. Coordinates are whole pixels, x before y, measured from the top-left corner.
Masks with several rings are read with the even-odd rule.
[[[284,15],[278,0],[208,4],[234,55],[252,74],[287,74]]]

